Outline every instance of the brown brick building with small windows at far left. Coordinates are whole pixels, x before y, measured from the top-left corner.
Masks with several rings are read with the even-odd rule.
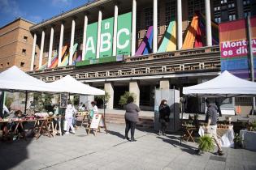
[[[30,70],[33,36],[29,28],[33,24],[19,18],[0,28],[0,71],[7,70],[11,66],[18,66],[24,71]],[[35,57],[37,57],[37,51],[34,53]],[[33,62],[33,67],[36,66],[38,66],[38,60]]]

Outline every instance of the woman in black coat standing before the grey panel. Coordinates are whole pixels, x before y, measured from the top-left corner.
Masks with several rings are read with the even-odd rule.
[[[162,100],[161,104],[159,105],[159,122],[161,123],[161,132],[163,135],[166,135],[167,125],[169,122],[170,117],[170,107],[167,104],[167,100]],[[159,132],[159,134],[161,134]]]

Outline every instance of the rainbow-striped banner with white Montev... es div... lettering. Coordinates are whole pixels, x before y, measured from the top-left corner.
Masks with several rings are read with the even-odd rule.
[[[221,51],[221,71],[228,70],[243,79],[248,79],[249,57],[245,19],[219,23],[219,45]],[[254,54],[254,76],[256,75],[256,17],[250,19],[252,47]]]

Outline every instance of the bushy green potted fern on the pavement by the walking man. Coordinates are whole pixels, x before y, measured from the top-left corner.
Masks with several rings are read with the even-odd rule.
[[[201,151],[214,151],[215,145],[210,135],[205,134],[198,138],[198,149]]]

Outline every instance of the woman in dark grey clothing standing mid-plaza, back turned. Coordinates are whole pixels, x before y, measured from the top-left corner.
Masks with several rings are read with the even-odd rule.
[[[138,117],[139,117],[139,112],[141,111],[141,109],[137,106],[137,104],[133,103],[134,99],[132,96],[129,96],[127,99],[127,104],[126,104],[126,111],[125,111],[125,138],[127,140],[129,140],[130,138],[128,138],[128,132],[129,130],[131,130],[131,142],[135,142],[135,138],[134,138],[134,131],[135,131],[135,127],[136,127],[136,123],[138,121]]]

